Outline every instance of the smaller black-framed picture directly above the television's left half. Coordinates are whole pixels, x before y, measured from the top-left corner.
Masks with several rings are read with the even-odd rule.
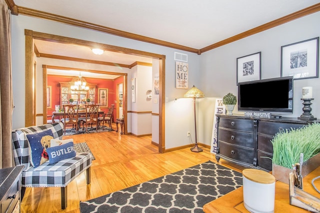
[[[261,79],[261,52],[236,58],[236,85]]]

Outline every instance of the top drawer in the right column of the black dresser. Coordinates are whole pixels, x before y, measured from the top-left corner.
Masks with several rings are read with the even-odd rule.
[[[302,124],[259,121],[257,133],[274,136],[276,133],[280,132],[281,130],[285,130],[285,129],[290,130],[291,128],[297,129],[302,126],[303,126]]]

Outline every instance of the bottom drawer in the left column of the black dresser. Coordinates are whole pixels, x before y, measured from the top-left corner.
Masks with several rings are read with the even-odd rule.
[[[219,154],[241,163],[253,165],[253,149],[235,147],[230,144],[219,142]]]

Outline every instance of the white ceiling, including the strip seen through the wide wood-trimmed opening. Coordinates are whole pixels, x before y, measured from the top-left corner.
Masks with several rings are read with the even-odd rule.
[[[201,49],[320,0],[14,0],[17,6]],[[36,42],[39,52],[131,64],[150,59]],[[63,52],[61,52],[63,49]],[[60,51],[60,53],[59,53]]]

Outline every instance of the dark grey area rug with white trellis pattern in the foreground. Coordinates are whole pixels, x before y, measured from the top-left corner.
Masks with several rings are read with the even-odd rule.
[[[241,186],[241,173],[208,161],[80,202],[80,212],[203,213],[203,205]]]

